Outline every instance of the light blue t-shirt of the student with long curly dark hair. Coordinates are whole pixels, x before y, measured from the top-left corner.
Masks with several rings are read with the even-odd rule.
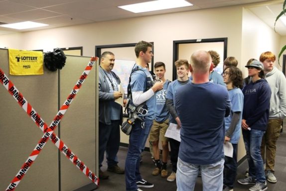
[[[240,138],[240,131],[241,131],[241,120],[242,120],[242,111],[243,111],[243,94],[242,91],[239,88],[234,88],[232,90],[228,91],[229,98],[231,100],[231,112],[229,116],[224,118],[225,123],[225,131],[229,129],[232,115],[234,112],[240,111],[239,121],[235,127],[235,130],[233,131],[232,137],[230,139],[230,142],[233,144],[237,144]]]

